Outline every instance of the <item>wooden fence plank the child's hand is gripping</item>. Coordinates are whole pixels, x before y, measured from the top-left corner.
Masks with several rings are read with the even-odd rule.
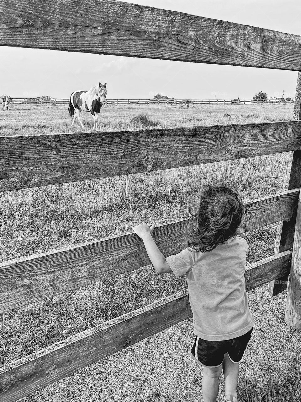
[[[298,195],[299,189],[295,189],[246,203],[244,223],[238,234],[283,219],[295,219]],[[190,219],[179,219],[155,229],[153,236],[163,254],[175,254],[187,247],[185,230],[189,223]],[[150,261],[143,243],[134,233],[6,261],[0,264],[0,312],[147,264]]]

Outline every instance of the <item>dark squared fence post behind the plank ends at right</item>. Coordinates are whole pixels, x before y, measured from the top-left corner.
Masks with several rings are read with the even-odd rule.
[[[298,74],[295,106],[294,106],[294,119],[301,119],[301,72]],[[291,164],[291,173],[289,177],[288,189],[295,189],[301,185],[301,151],[296,150],[293,152],[293,159]],[[281,233],[276,238],[275,253],[288,250],[288,244],[293,244],[295,231],[295,219],[283,221]],[[275,296],[283,292],[287,288],[288,276],[277,278],[269,284],[269,294]]]

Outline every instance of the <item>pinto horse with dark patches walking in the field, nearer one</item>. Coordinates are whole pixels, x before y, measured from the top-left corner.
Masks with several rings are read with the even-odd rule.
[[[72,92],[69,100],[68,115],[72,120],[71,127],[74,125],[75,120],[79,121],[81,127],[85,127],[80,119],[81,111],[90,112],[92,114],[94,125],[92,130],[96,130],[98,126],[98,116],[102,105],[106,103],[106,89],[107,83],[92,86],[88,91],[75,91]],[[76,114],[75,114],[76,113]]]

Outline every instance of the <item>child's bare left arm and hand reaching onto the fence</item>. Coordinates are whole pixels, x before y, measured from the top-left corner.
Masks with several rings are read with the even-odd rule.
[[[132,230],[134,230],[137,236],[139,236],[143,240],[147,255],[156,271],[160,273],[172,272],[169,265],[167,264],[165,256],[161,253],[161,251],[157,247],[157,244],[155,243],[155,240],[153,239],[152,232],[154,228],[155,224],[150,226],[150,228],[146,224],[140,224],[134,226]]]

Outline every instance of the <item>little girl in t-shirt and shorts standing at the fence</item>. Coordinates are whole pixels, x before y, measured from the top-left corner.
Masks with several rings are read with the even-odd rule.
[[[134,226],[154,268],[160,273],[185,274],[193,312],[195,341],[191,357],[203,366],[199,402],[216,402],[218,380],[224,372],[224,401],[237,399],[239,362],[251,338],[253,319],[248,307],[244,269],[248,243],[235,236],[244,204],[226,186],[208,185],[191,214],[188,247],[167,258],[151,233],[155,224]]]

